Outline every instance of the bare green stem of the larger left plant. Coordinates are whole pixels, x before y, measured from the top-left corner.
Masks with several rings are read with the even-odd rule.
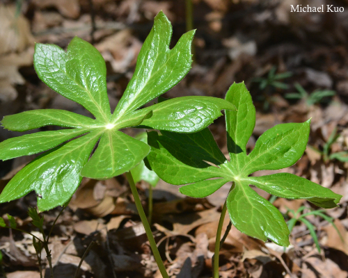
[[[145,228],[146,236],[148,236],[148,240],[149,240],[149,243],[150,243],[152,254],[155,257],[155,261],[156,261],[157,266],[159,268],[159,272],[161,272],[161,275],[162,275],[163,278],[169,278],[169,276],[168,276],[168,274],[166,272],[166,268],[164,267],[163,261],[161,259],[161,255],[159,254],[159,251],[157,249],[155,238],[152,235],[150,224],[148,223],[148,219],[146,218],[145,212],[143,210],[143,206],[141,205],[141,200],[140,200],[138,191],[136,190],[136,186],[135,186],[134,179],[132,177],[131,172],[126,172],[126,177],[128,179],[129,186],[130,186],[130,188],[132,190],[132,194],[133,194],[133,197],[134,197],[134,202],[135,202],[135,205],[136,205],[136,209],[138,210],[141,222],[143,222],[143,226]]]

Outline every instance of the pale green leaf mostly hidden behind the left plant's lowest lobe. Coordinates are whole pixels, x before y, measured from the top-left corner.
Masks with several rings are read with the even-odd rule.
[[[139,133],[135,138],[141,140],[141,142],[148,143],[148,133],[146,132]],[[152,187],[155,187],[159,182],[157,174],[149,170],[148,167],[145,166],[144,161],[136,165],[136,167],[131,170],[131,173],[136,183],[143,180],[150,183]]]

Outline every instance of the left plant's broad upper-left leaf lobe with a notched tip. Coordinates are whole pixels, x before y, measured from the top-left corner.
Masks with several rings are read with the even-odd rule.
[[[81,104],[97,119],[110,120],[106,65],[93,45],[75,37],[65,53],[54,44],[35,44],[34,67],[52,90]]]

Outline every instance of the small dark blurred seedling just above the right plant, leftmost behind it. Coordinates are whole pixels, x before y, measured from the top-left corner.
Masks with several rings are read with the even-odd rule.
[[[287,79],[292,76],[292,72],[282,72],[280,74],[276,74],[277,67],[273,66],[267,77],[255,77],[252,81],[255,83],[259,83],[259,89],[265,90],[266,88],[278,88],[286,90],[289,88],[289,85],[280,82],[279,80]]]

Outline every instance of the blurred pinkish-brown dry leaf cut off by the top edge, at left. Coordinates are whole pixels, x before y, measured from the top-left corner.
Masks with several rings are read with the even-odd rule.
[[[55,7],[65,17],[77,18],[80,15],[79,0],[34,0],[33,3],[42,9]]]

